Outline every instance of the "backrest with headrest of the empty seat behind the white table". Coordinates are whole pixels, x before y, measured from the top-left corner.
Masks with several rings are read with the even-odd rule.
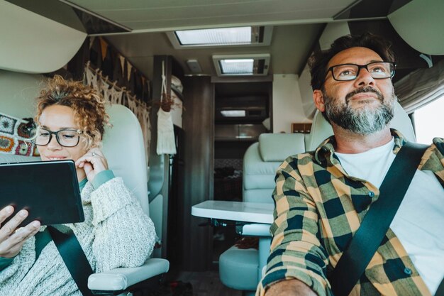
[[[262,133],[243,158],[243,201],[272,203],[277,168],[285,158],[304,150],[301,133]]]

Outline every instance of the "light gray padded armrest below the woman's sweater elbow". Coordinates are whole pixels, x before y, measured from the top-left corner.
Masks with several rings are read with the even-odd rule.
[[[88,278],[89,290],[126,290],[136,283],[166,273],[170,262],[160,258],[150,258],[140,267],[116,268],[104,273],[93,273]]]

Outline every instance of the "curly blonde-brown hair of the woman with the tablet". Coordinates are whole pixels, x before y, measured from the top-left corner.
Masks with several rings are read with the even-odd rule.
[[[101,146],[105,126],[109,124],[109,115],[105,111],[104,98],[95,89],[82,82],[65,80],[55,75],[46,82],[37,97],[35,122],[40,124],[43,110],[52,105],[68,106],[74,110],[74,121],[83,131],[82,139],[88,150]]]

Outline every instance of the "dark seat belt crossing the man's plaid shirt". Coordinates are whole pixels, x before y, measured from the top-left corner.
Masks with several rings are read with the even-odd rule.
[[[348,296],[373,258],[409,188],[428,146],[406,142],[398,151],[362,223],[343,252],[331,277],[333,294]]]

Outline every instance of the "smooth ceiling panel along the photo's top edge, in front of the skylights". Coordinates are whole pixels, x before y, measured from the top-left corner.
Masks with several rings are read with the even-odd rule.
[[[201,28],[238,23],[313,23],[332,17],[355,0],[70,1],[133,30]]]

